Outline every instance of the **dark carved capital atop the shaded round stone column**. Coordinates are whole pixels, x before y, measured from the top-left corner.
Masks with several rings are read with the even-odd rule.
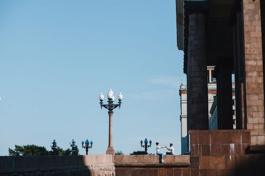
[[[209,1],[184,1],[184,10],[188,14],[207,13],[209,9]]]

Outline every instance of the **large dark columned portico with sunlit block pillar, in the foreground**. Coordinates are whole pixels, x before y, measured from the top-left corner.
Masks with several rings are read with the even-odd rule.
[[[264,145],[265,1],[176,0],[176,15],[187,75],[188,130],[209,129],[206,67],[216,65],[217,128],[233,129],[234,73],[237,129],[251,131],[251,145]]]

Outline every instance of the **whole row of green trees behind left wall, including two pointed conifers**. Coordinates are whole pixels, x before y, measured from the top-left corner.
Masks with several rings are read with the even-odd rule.
[[[8,148],[9,156],[35,156],[35,155],[78,155],[79,149],[75,144],[74,139],[71,141],[70,148],[64,150],[57,146],[55,139],[52,142],[51,150],[48,151],[45,147],[38,145],[15,145],[14,150]]]

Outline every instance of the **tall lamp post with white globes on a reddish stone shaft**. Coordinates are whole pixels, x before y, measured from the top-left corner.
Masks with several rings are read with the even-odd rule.
[[[109,146],[107,147],[107,151],[106,154],[112,154],[115,155],[115,150],[113,148],[113,144],[112,144],[112,115],[113,115],[113,109],[117,108],[119,106],[120,108],[120,104],[121,104],[121,100],[122,100],[122,94],[120,93],[118,95],[118,104],[113,104],[113,101],[115,99],[115,97],[113,96],[113,91],[110,89],[110,91],[107,94],[107,98],[108,98],[108,104],[103,104],[103,99],[104,99],[104,95],[101,93],[99,95],[99,99],[100,99],[100,107],[102,109],[102,107],[108,109],[108,114],[109,114]]]

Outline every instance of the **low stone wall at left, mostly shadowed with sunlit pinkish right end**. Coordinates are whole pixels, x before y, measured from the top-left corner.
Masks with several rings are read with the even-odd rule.
[[[0,156],[1,175],[115,175],[113,155]]]

